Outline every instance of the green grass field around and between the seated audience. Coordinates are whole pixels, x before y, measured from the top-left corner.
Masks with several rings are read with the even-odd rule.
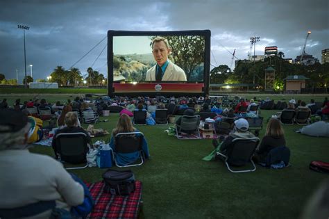
[[[10,105],[18,97],[25,98],[21,95],[1,96],[7,97]],[[69,96],[49,96],[47,99],[64,101]],[[241,96],[251,98],[255,95]],[[286,101],[291,98],[266,96]],[[324,99],[323,95],[294,97],[307,102],[310,98],[317,101]],[[264,136],[267,117],[275,112],[262,111],[261,115],[265,119],[260,138]],[[118,113],[110,113],[108,122],[99,122],[95,127],[111,131],[118,117]],[[130,168],[143,184],[142,200],[146,218],[299,218],[310,195],[321,181],[328,179],[327,175],[312,172],[308,168],[310,161],[329,161],[328,138],[295,133],[300,128],[298,125],[284,126],[287,147],[292,152],[291,167],[271,170],[257,166],[255,172],[241,174],[229,172],[220,161],[201,160],[212,151],[211,140],[178,140],[165,132],[169,126],[137,126],[146,136],[151,154],[151,159],[144,165]],[[110,136],[102,139],[108,138]],[[93,138],[93,142],[98,139]],[[50,147],[35,146],[31,151],[53,156]],[[94,182],[101,180],[104,171],[87,168],[72,172],[84,181]]]

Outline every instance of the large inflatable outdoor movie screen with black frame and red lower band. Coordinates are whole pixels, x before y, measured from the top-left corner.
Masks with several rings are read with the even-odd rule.
[[[201,95],[209,71],[208,30],[108,31],[109,95]]]

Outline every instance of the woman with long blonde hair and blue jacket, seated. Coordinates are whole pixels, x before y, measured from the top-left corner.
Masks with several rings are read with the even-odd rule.
[[[115,129],[112,129],[112,137],[110,140],[110,147],[115,150],[115,136],[117,133],[128,133],[128,132],[138,132],[137,129],[133,127],[133,123],[130,120],[130,117],[126,114],[122,114],[119,117],[119,120],[117,122],[117,127]],[[149,158],[149,147],[147,146],[146,139],[143,138],[142,143],[142,151],[144,152],[145,158]],[[119,163],[119,165],[127,165],[129,163],[133,163],[138,159],[140,156],[139,152],[133,152],[129,154],[116,154],[116,161]]]

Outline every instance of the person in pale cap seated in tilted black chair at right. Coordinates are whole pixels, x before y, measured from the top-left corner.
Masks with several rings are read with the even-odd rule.
[[[248,131],[249,129],[249,123],[247,120],[241,118],[239,120],[235,120],[234,122],[235,127],[234,127],[234,132],[230,133],[230,136],[228,136],[223,143],[221,144],[220,147],[220,152],[222,154],[226,154],[227,149],[229,147],[232,147],[233,145],[233,140],[235,138],[253,138],[255,137],[253,135],[253,133],[251,133],[250,131]],[[217,143],[217,141],[213,142],[214,146],[218,146],[219,144]]]

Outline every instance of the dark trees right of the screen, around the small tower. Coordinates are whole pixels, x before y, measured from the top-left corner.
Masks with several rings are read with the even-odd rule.
[[[284,79],[289,75],[303,75],[309,78],[306,88],[326,88],[329,84],[329,63],[315,63],[314,65],[298,65],[285,60],[284,54],[264,58],[263,61],[251,62],[238,60],[234,71],[227,65],[219,65],[210,71],[210,83],[253,83],[264,87],[265,69],[273,67],[275,70],[275,90],[282,90]]]

